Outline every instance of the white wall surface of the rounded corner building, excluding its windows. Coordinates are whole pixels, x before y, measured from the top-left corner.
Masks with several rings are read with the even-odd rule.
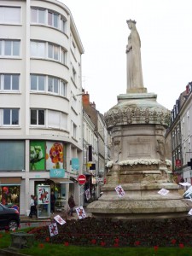
[[[77,177],[78,173],[71,172],[70,160],[73,157],[78,157],[80,162],[79,172],[82,172],[82,100],[81,96],[77,96],[77,104],[72,108],[71,92],[73,95],[78,95],[82,92],[81,85],[81,55],[84,53],[83,45],[81,44],[77,28],[74,24],[72,15],[67,7],[59,1],[1,1],[3,6],[17,6],[21,8],[20,24],[0,23],[0,40],[20,40],[20,55],[19,56],[2,56],[0,55],[0,73],[19,73],[20,74],[20,90],[3,91],[0,90],[0,110],[3,108],[20,108],[19,125],[5,126],[3,125],[3,115],[0,113],[0,142],[2,140],[15,141],[21,139],[26,143],[25,152],[25,172],[0,172],[1,177],[21,177],[20,184],[20,214],[25,214],[29,208],[30,195],[34,195],[35,181],[45,181],[49,178],[49,172],[45,170],[32,172],[30,166],[30,141],[43,140],[44,142],[61,142],[67,145],[67,174],[68,177]],[[66,18],[66,32],[63,33],[54,27],[31,22],[31,7],[49,9]],[[72,53],[72,38],[75,43],[75,52]],[[30,42],[44,42],[46,44],[55,44],[67,51],[66,64],[63,65],[59,61],[47,58],[47,52],[44,57],[38,58],[31,56]],[[73,81],[73,70],[76,71],[76,79]],[[40,74],[45,76],[54,76],[57,79],[62,79],[67,83],[66,97],[55,96],[47,91],[31,91],[30,74]],[[74,83],[75,82],[75,83]],[[45,110],[45,125],[44,127],[30,125],[30,110],[31,108]],[[49,127],[47,113],[49,110],[65,113],[67,116],[66,127],[64,129]],[[72,135],[73,127],[72,120],[77,126],[77,135],[74,138]],[[71,151],[71,147],[73,150]],[[74,192],[79,193],[78,184],[74,185]],[[68,194],[67,194],[68,195]],[[79,195],[75,195],[79,198]],[[79,202],[77,201],[77,204]]]

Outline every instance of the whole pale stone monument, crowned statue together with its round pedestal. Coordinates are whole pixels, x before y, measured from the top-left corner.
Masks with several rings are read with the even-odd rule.
[[[187,216],[192,203],[178,194],[179,187],[172,180],[172,162],[166,160],[165,133],[170,111],[143,86],[136,21],[127,20],[127,24],[131,33],[126,46],[126,94],[119,95],[117,105],[105,113],[112,136],[107,183],[102,187],[102,196],[87,210],[96,218]],[[124,194],[120,194],[122,190]]]

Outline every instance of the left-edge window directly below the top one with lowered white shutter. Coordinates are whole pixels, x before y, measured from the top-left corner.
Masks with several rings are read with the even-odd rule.
[[[0,40],[0,55],[19,56],[20,41],[19,40]]]

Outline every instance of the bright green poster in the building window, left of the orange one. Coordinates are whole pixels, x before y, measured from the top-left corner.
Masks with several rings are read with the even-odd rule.
[[[45,145],[41,141],[30,142],[30,170],[42,171],[45,169]]]

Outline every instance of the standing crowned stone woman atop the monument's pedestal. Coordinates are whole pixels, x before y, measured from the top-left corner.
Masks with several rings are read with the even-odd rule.
[[[143,72],[141,60],[141,41],[135,20],[127,20],[131,33],[126,46],[127,55],[127,93],[146,92],[143,87]]]

